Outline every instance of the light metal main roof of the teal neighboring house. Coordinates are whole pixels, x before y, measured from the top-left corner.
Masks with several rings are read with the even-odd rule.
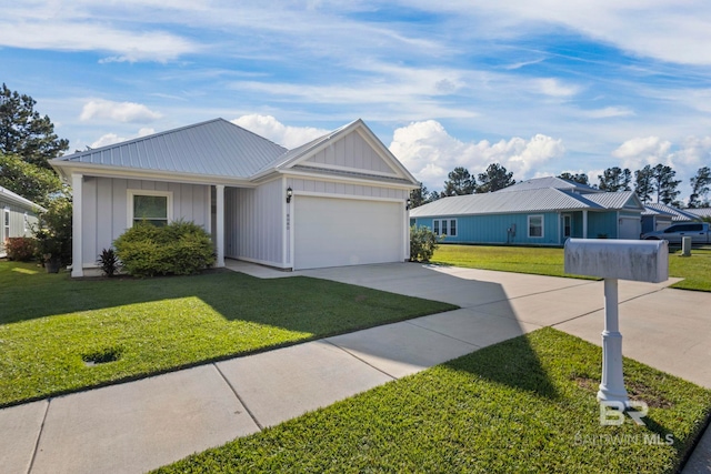
[[[410,211],[411,218],[549,212],[603,208],[579,194],[553,188],[441,198]]]

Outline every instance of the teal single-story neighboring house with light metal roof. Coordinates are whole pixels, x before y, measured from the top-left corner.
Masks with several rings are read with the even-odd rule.
[[[644,205],[633,191],[603,192],[538,178],[492,193],[442,198],[410,211],[445,243],[562,245],[569,238],[639,239]]]

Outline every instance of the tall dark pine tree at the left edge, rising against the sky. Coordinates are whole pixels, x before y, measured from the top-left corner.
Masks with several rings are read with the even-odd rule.
[[[30,95],[0,89],[0,153],[17,154],[23,161],[51,170],[48,160],[69,149],[69,141],[54,133],[48,115],[34,110]]]

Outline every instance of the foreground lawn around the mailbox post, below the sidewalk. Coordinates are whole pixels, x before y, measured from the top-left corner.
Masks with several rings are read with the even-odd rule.
[[[158,472],[674,472],[711,391],[624,364],[645,426],[601,426],[600,347],[542,329]]]

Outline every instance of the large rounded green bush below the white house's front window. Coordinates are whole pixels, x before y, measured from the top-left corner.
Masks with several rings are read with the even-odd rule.
[[[123,270],[133,276],[188,275],[214,263],[210,235],[193,222],[158,228],[139,222],[114,242]]]

